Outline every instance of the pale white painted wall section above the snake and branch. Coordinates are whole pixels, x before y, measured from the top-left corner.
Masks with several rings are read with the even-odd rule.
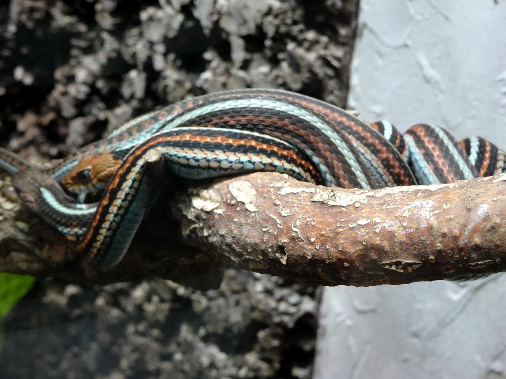
[[[364,121],[436,123],[506,149],[504,2],[363,0],[359,23],[348,104]]]

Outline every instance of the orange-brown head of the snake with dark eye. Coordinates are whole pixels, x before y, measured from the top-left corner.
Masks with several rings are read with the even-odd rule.
[[[121,159],[112,152],[84,156],[63,177],[62,185],[83,202],[86,195],[106,187],[120,164]]]

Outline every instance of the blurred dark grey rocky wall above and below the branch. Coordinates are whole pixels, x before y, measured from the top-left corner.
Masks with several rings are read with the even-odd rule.
[[[345,106],[358,1],[0,3],[0,146],[63,158],[219,90]],[[3,325],[0,378],[311,377],[319,290],[227,269],[219,289],[40,279]]]

